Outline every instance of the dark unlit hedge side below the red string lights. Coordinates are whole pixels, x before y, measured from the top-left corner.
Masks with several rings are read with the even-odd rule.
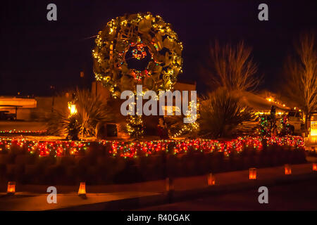
[[[0,154],[1,181],[22,184],[75,185],[123,184],[163,179],[166,176],[196,176],[249,167],[271,167],[306,162],[304,148],[269,146],[244,148],[226,157],[223,152],[185,154],[156,153],[137,158],[113,157],[105,149],[90,148],[85,155],[38,157],[18,150]]]

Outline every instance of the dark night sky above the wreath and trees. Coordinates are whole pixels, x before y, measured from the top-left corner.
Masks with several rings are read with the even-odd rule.
[[[46,6],[57,5],[58,20],[46,20]],[[258,20],[260,3],[269,20]],[[151,12],[173,25],[184,44],[180,79],[199,79],[199,63],[208,57],[210,41],[244,41],[253,47],[262,88],[278,90],[282,64],[300,32],[315,30],[316,1],[8,1],[1,3],[0,95],[48,95],[93,78],[91,37],[124,13]]]

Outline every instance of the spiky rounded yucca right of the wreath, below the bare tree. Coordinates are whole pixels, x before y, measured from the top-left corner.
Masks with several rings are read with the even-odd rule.
[[[253,117],[252,108],[226,89],[218,89],[201,100],[200,134],[211,139],[230,137],[239,124]]]

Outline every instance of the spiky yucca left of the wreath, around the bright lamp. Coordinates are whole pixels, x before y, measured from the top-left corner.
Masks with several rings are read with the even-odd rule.
[[[70,127],[73,127],[73,129],[77,129],[81,138],[95,136],[97,124],[113,122],[112,110],[107,107],[106,102],[101,101],[100,96],[92,94],[87,89],[76,89],[75,96],[77,113],[71,117],[68,110],[70,98],[61,96],[56,98],[54,112],[51,113],[47,122],[49,134],[66,137]],[[76,120],[75,125],[74,119]]]

